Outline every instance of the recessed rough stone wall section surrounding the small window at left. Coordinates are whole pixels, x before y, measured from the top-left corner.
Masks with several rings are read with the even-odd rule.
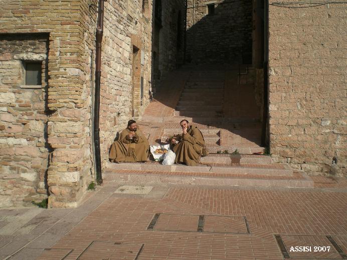
[[[47,198],[49,43],[48,34],[0,39],[0,207],[4,207]],[[30,61],[42,64],[40,85],[26,85]]]

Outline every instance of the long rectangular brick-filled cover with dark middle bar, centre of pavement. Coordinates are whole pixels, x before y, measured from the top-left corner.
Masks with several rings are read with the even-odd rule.
[[[244,216],[157,213],[148,230],[249,234]]]

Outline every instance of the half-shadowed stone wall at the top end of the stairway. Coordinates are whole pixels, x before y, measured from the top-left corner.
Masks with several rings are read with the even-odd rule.
[[[188,0],[188,62],[251,64],[251,57],[252,1]]]

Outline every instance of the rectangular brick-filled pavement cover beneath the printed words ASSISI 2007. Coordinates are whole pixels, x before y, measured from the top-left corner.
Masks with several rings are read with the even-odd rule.
[[[288,259],[347,259],[347,236],[275,235],[284,258]]]

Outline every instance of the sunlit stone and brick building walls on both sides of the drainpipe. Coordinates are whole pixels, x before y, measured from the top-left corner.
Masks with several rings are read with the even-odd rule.
[[[49,207],[75,207],[94,179],[91,122],[97,1],[0,3],[2,36],[28,34],[30,46],[38,44],[36,33],[46,33],[49,39],[47,51],[32,48],[34,53],[48,55],[45,92],[44,88],[21,89],[21,62],[14,60],[14,48],[8,43],[1,49],[5,65],[0,70],[8,74],[0,74],[0,156],[4,159],[0,172],[4,203],[0,206],[41,200],[48,194]],[[103,165],[116,132],[149,103],[151,8],[145,0],[105,2],[100,97]],[[17,45],[27,51],[24,41]],[[140,59],[133,64],[135,47]],[[136,101],[132,104],[132,100]],[[14,136],[8,139],[8,135]]]

